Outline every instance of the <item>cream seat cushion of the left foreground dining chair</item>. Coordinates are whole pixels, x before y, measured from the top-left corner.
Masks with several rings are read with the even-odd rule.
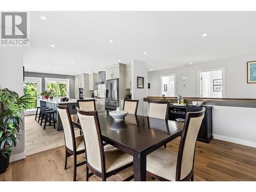
[[[107,144],[104,146],[106,173],[133,162],[133,156]]]

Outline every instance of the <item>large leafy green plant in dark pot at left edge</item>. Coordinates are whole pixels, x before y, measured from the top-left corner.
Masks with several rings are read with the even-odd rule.
[[[14,91],[0,90],[0,174],[9,166],[12,147],[17,144],[22,123],[19,113],[27,109],[30,99],[29,95],[19,97]]]

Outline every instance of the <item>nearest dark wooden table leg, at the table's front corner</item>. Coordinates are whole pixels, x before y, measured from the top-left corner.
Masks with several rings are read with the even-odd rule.
[[[134,181],[146,181],[146,155],[134,153],[133,171]]]

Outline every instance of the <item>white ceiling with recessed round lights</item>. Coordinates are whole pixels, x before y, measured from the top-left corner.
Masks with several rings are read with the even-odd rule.
[[[196,65],[255,54],[255,15],[255,12],[30,12],[30,46],[24,48],[25,71],[91,73],[104,70],[119,59],[123,63],[138,59],[146,62],[148,69],[159,70],[189,62]],[[49,19],[42,20],[39,16]],[[209,35],[201,37],[203,33]]]

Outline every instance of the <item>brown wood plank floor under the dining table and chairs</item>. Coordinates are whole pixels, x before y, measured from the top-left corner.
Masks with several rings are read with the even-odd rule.
[[[168,150],[178,152],[180,138],[167,144]],[[78,161],[84,160],[80,155]],[[69,157],[68,169],[64,170],[65,147],[40,152],[10,164],[0,181],[72,181],[73,159]],[[85,167],[77,169],[77,180],[85,180]],[[129,167],[107,181],[121,181],[133,174]],[[148,180],[151,180],[148,178]],[[195,157],[196,181],[256,181],[256,148],[221,140],[209,144],[197,142]],[[90,181],[101,181],[92,176]]]

